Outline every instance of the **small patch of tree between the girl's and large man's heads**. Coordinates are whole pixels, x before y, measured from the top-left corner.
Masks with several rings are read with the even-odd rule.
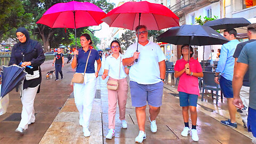
[[[119,38],[121,44],[121,49],[126,50],[131,44],[135,42],[135,32],[127,29],[125,33],[122,34],[122,37]]]

